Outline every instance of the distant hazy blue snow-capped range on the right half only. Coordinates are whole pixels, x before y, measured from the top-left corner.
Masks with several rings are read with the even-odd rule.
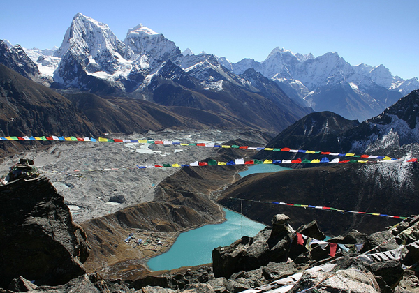
[[[403,80],[383,65],[351,66],[336,52],[315,58],[277,47],[262,62],[242,59],[231,63],[223,57],[219,61],[236,74],[248,68],[259,71],[277,82],[288,96],[316,111],[329,110],[360,121],[374,117],[403,95],[419,89],[417,77]]]

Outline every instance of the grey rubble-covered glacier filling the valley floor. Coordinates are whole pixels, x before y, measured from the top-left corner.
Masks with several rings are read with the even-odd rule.
[[[149,131],[142,135],[108,135],[129,140],[169,140],[173,142],[226,142],[241,138],[265,144],[263,135],[240,130]],[[51,147],[3,158],[0,174],[19,158],[31,158],[54,187],[64,196],[73,219],[81,223],[123,209],[150,202],[156,186],[179,170],[176,167],[138,169],[137,165],[163,163],[189,164],[216,156],[218,148],[184,147],[163,144],[125,144],[119,142],[55,142]],[[234,158],[232,158],[234,159]],[[99,170],[114,168],[117,170]],[[80,172],[74,172],[80,170]],[[84,170],[84,171],[83,171]]]

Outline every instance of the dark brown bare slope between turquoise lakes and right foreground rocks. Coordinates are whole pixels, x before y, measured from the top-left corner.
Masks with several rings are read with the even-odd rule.
[[[267,225],[272,215],[285,213],[293,227],[315,219],[321,231],[328,235],[346,234],[351,229],[371,233],[399,220],[271,202],[411,216],[419,208],[418,184],[417,164],[326,165],[246,176],[228,187],[219,202],[235,211],[242,209],[245,216]],[[242,208],[241,201],[235,198],[243,199]]]

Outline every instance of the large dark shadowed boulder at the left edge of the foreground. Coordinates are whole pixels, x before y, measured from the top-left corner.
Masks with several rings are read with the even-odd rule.
[[[0,287],[20,276],[61,285],[86,273],[87,236],[47,178],[18,179],[0,195]]]

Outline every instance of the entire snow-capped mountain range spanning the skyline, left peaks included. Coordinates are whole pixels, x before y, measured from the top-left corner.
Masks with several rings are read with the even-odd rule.
[[[193,54],[186,49],[181,53],[163,34],[142,24],[129,29],[122,42],[106,24],[81,13],[73,18],[59,49],[30,49],[27,53],[43,77],[38,80],[50,87],[151,101],[154,89],[163,83],[219,93],[232,85],[270,96],[266,88],[260,89],[267,82],[253,84],[258,78],[252,81],[253,73],[244,75],[251,68],[274,81],[281,95],[285,93],[300,106],[360,121],[419,88],[417,78],[394,77],[384,66],[351,66],[336,52],[314,57],[277,47],[262,62],[243,59],[231,63],[205,52]]]

